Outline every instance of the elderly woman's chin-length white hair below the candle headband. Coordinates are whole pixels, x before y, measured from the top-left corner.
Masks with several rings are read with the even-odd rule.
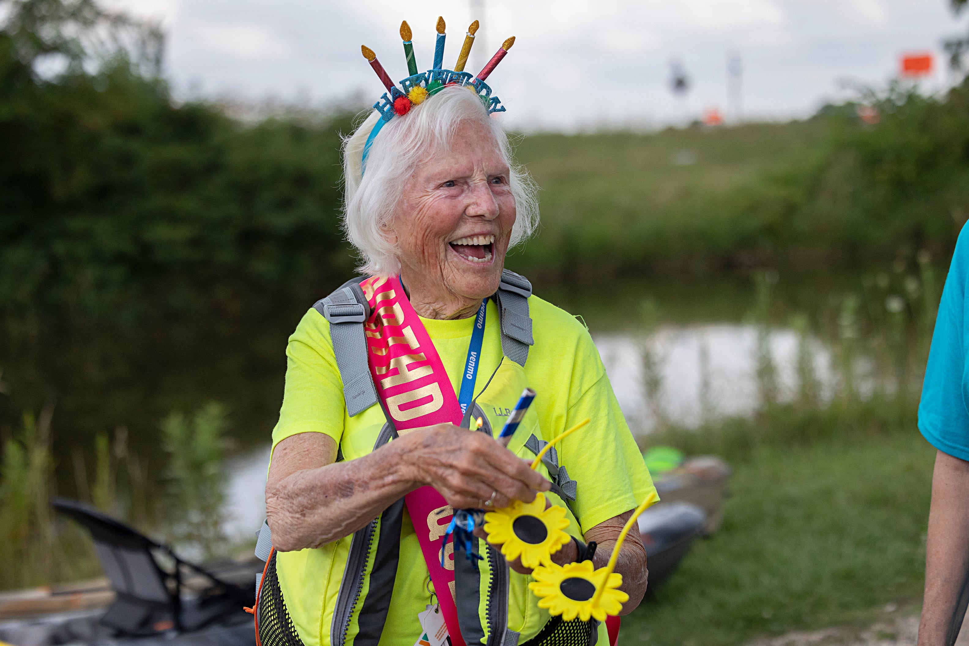
[[[397,250],[382,230],[391,224],[404,184],[428,151],[447,150],[457,126],[465,121],[485,125],[495,148],[511,169],[516,220],[509,249],[526,240],[539,221],[538,187],[512,158],[508,135],[490,117],[481,99],[465,87],[445,87],[420,106],[394,117],[370,145],[366,174],[361,173],[363,145],[380,118],[373,112],[350,137],[343,139],[345,194],[343,227],[361,259],[359,272],[389,276],[400,270]]]

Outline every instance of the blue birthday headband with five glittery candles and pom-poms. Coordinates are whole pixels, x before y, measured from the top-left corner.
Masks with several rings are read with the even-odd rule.
[[[394,116],[407,114],[412,107],[421,105],[427,97],[433,96],[442,88],[452,85],[467,87],[482,100],[485,108],[487,108],[488,114],[505,111],[505,107],[501,105],[501,99],[496,96],[491,96],[491,88],[485,83],[485,78],[494,72],[498,63],[501,62],[501,59],[515,45],[515,37],[513,36],[502,43],[498,51],[491,57],[491,60],[482,68],[482,71],[476,76],[472,76],[464,71],[464,65],[468,62],[468,54],[471,53],[471,46],[475,43],[475,33],[478,31],[478,27],[478,20],[471,23],[471,26],[468,27],[468,33],[464,37],[461,52],[457,55],[457,62],[454,63],[454,69],[445,70],[441,68],[444,63],[445,24],[444,18],[438,16],[437,42],[434,46],[434,67],[426,72],[419,73],[417,60],[414,58],[411,26],[407,24],[407,20],[401,22],[400,38],[404,42],[404,56],[407,59],[407,72],[410,74],[409,77],[400,81],[400,87],[403,90],[398,89],[393,84],[384,66],[377,60],[377,54],[373,52],[373,49],[365,45],[360,46],[363,57],[367,59],[370,67],[373,68],[373,71],[377,73],[377,77],[380,77],[381,82],[384,83],[384,87],[387,88],[387,92],[380,98],[380,101],[373,105],[373,108],[380,112],[380,119],[374,125],[373,130],[370,131],[366,143],[363,144],[361,169],[366,168],[366,158],[370,152],[370,146],[373,144],[374,138],[377,137],[377,133],[384,127],[384,124],[389,123]]]

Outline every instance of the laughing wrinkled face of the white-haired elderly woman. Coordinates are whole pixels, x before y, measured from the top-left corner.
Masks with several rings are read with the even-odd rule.
[[[516,218],[509,179],[491,132],[476,121],[458,124],[451,149],[411,174],[386,234],[421,316],[472,316],[498,289]]]

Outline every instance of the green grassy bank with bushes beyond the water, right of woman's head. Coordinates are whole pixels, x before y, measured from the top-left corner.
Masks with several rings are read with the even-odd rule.
[[[951,249],[969,213],[969,83],[944,98],[891,86],[869,99],[873,126],[849,104],[785,124],[523,138],[543,224],[509,263],[590,281]]]

